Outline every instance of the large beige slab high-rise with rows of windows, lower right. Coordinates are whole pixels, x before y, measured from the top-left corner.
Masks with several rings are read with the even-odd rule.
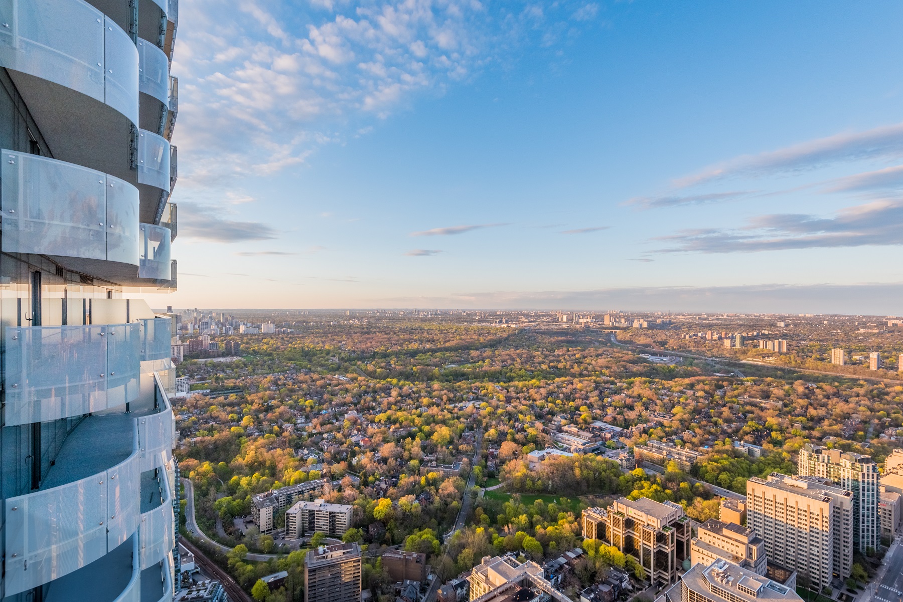
[[[803,585],[821,589],[852,570],[852,492],[826,479],[747,481],[747,524],[765,541],[769,561],[796,570]]]

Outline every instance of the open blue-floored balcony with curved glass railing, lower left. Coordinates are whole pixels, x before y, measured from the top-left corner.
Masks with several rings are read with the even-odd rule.
[[[155,382],[162,392],[158,377]],[[162,395],[153,410],[85,418],[63,442],[41,488],[5,500],[7,596],[50,581],[53,592],[86,574],[105,574],[130,538],[135,565],[129,571],[166,561],[175,537],[170,476],[174,422]],[[114,585],[103,591],[119,595],[127,590],[130,579],[123,571],[107,578]],[[134,583],[128,587],[144,589]]]

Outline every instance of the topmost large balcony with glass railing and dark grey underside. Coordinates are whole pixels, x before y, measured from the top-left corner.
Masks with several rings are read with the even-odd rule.
[[[138,51],[83,0],[0,3],[0,67],[54,157],[126,181],[128,131],[138,125]]]

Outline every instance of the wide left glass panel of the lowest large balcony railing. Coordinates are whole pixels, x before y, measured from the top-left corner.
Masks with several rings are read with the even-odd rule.
[[[5,594],[37,587],[105,555],[106,498],[105,472],[7,499]]]

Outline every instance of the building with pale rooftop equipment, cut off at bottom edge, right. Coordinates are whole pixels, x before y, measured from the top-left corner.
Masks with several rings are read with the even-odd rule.
[[[795,584],[781,584],[728,560],[697,564],[680,580],[680,602],[802,602]]]

